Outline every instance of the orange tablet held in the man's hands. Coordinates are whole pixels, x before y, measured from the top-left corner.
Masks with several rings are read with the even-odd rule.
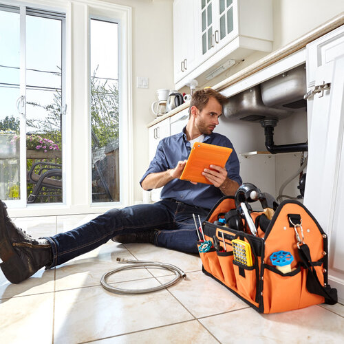
[[[232,151],[231,148],[215,146],[215,144],[195,142],[180,179],[212,184],[202,175],[203,170],[210,169],[210,165],[224,167]]]

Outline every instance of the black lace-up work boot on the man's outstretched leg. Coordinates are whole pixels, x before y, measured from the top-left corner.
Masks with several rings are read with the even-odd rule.
[[[52,264],[52,247],[47,239],[32,239],[17,228],[0,201],[0,268],[12,283],[20,283]]]

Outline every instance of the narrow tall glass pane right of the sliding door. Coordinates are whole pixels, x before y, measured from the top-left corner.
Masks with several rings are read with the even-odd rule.
[[[118,202],[118,23],[91,19],[90,33],[92,202]]]

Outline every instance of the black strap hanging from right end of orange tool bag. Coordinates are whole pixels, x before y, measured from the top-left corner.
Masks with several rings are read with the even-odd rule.
[[[310,248],[307,244],[299,246],[299,256],[301,258],[303,266],[305,266],[305,268],[308,269],[307,281],[305,284],[307,290],[309,292],[312,292],[312,294],[317,294],[321,297],[324,297],[325,303],[327,303],[327,305],[334,305],[335,303],[337,303],[337,290],[335,288],[331,288],[329,285],[324,287],[319,281],[314,266],[312,265],[312,259],[310,257]]]

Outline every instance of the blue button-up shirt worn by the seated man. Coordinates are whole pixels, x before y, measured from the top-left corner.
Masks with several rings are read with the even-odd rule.
[[[204,137],[204,143],[216,144],[217,146],[233,149],[226,162],[228,178],[235,180],[239,185],[242,180],[239,175],[239,159],[235,153],[232,142],[219,133],[211,133]],[[191,145],[186,140],[185,128],[182,133],[178,133],[167,138],[163,138],[155,153],[155,157],[149,164],[149,168],[144,173],[140,184],[149,173],[162,172],[168,169],[174,169],[178,161],[186,160],[191,152]],[[168,182],[161,191],[160,198],[173,198],[174,200],[190,204],[192,206],[201,206],[211,209],[215,203],[223,196],[219,188],[210,185],[197,183],[192,184],[186,180],[173,179]]]

